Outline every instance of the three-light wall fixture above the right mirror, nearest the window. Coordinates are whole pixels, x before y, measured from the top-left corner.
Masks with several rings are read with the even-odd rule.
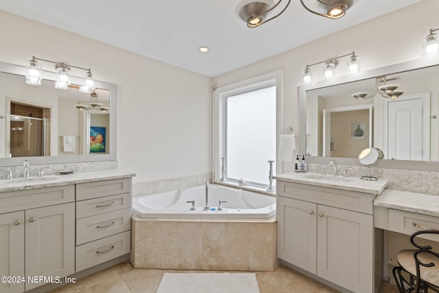
[[[311,83],[312,82],[312,75],[311,75],[311,69],[309,67],[314,66],[314,65],[318,65],[318,64],[322,64],[322,63],[324,63],[323,78],[325,80],[331,80],[332,78],[335,78],[335,69],[338,66],[338,59],[346,57],[346,56],[351,56],[351,57],[349,57],[348,64],[347,64],[348,73],[359,72],[360,58],[357,55],[355,55],[355,51],[353,51],[350,54],[338,56],[336,58],[331,58],[329,60],[320,61],[320,62],[313,63],[311,65],[307,65],[307,67],[303,71],[303,82],[305,82],[305,84]]]

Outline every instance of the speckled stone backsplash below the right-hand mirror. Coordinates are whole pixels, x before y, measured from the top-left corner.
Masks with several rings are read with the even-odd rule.
[[[319,173],[322,167],[328,167],[328,165],[308,163],[308,172]],[[346,167],[351,166],[337,165],[338,174],[343,174]],[[372,167],[370,170],[372,176],[376,176],[379,179],[388,180],[388,185],[385,187],[386,189],[439,196],[439,172],[385,169],[377,167]],[[353,167],[352,170],[348,171],[348,174],[351,177],[359,178],[368,174],[368,168]]]

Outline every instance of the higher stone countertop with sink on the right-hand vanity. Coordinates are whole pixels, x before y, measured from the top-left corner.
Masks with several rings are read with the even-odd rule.
[[[273,178],[292,183],[302,183],[307,185],[358,191],[366,194],[380,194],[388,184],[388,180],[383,179],[378,181],[367,181],[361,180],[358,177],[321,175],[311,172],[289,172],[278,174]]]

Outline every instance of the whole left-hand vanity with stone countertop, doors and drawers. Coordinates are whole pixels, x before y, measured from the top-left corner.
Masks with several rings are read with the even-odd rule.
[[[0,292],[64,283],[128,259],[132,176],[102,171],[0,181],[0,275],[10,277]]]

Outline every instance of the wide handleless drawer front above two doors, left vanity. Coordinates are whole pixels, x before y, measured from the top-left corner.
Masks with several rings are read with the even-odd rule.
[[[75,185],[36,188],[0,193],[0,213],[47,207],[75,201]]]

